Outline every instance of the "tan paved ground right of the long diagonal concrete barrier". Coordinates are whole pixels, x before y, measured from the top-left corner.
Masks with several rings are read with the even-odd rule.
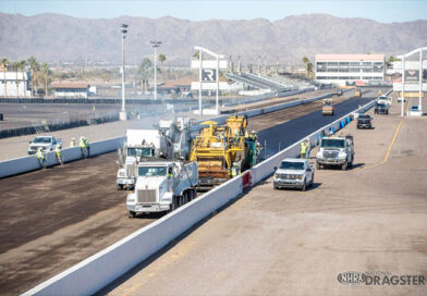
[[[374,118],[374,130],[345,130],[353,169],[316,170],[307,192],[273,190],[268,178],[99,294],[427,295],[419,281],[338,281],[427,278],[426,118],[402,120],[395,102]]]

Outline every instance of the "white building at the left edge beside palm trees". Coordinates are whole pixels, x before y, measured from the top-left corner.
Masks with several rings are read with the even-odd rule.
[[[30,97],[29,72],[0,71],[0,97]]]

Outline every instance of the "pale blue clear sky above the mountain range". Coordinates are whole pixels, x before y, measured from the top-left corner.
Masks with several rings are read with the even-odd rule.
[[[276,21],[294,14],[329,13],[342,17],[366,17],[381,23],[392,23],[426,20],[427,0],[0,0],[0,11],[4,13],[21,13],[24,15],[53,12],[88,18],[112,18],[121,15],[157,18],[169,15],[191,21],[210,18],[252,20],[259,17]]]

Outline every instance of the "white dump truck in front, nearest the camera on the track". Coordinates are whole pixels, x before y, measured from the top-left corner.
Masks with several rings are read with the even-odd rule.
[[[139,162],[136,184],[127,194],[129,217],[168,212],[196,198],[197,162],[156,160]]]

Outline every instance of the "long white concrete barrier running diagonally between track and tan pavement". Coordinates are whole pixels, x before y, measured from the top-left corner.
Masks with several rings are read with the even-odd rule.
[[[366,111],[373,106],[374,101],[354,112]],[[340,121],[350,114],[310,134],[308,137],[312,144],[316,144],[321,131],[331,126],[338,131]],[[249,170],[253,184],[271,175],[273,166],[279,165],[283,158],[297,157],[301,140]],[[24,295],[62,295],[65,292],[69,295],[94,294],[241,194],[242,176],[237,176],[41,283]]]

